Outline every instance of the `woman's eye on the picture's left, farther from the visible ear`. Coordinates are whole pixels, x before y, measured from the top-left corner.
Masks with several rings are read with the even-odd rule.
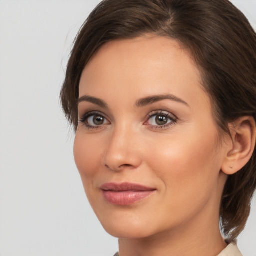
[[[83,115],[79,120],[87,128],[99,128],[105,124],[110,124],[110,122],[100,113],[89,112]]]

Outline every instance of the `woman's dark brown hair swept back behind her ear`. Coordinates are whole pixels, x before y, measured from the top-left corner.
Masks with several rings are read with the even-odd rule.
[[[85,65],[105,42],[153,33],[176,39],[201,71],[220,130],[240,116],[256,119],[256,34],[228,0],[103,0],[76,36],[61,89],[61,103],[76,130],[79,80]],[[243,230],[256,187],[256,150],[230,175],[224,187],[220,220],[235,240]]]

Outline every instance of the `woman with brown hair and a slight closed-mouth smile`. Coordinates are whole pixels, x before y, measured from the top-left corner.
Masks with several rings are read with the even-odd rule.
[[[61,100],[120,256],[241,255],[256,186],[256,35],[229,1],[102,1]]]

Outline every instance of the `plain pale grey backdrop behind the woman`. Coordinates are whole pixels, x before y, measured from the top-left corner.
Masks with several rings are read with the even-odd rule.
[[[0,0],[0,256],[111,256],[85,197],[59,91],[98,0]],[[256,27],[256,1],[233,0]],[[256,255],[256,201],[238,245]]]

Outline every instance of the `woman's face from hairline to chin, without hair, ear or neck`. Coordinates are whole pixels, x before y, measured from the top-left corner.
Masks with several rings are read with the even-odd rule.
[[[84,68],[74,157],[110,234],[218,223],[226,148],[200,82],[190,56],[160,36],[108,42]]]

